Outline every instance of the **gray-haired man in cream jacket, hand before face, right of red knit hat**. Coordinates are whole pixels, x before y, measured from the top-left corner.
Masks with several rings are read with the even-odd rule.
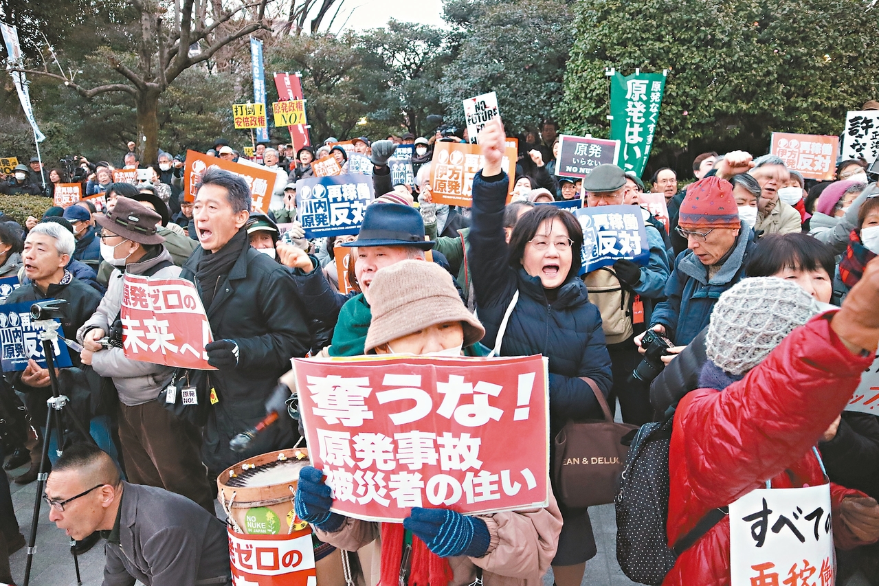
[[[802,231],[800,213],[778,198],[778,190],[788,184],[790,173],[780,156],[764,155],[753,160],[748,174],[760,184],[757,199],[757,225],[755,231],[767,234],[790,234]]]

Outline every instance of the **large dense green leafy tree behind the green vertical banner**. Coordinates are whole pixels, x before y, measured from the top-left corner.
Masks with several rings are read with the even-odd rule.
[[[840,134],[879,87],[879,8],[863,0],[579,0],[576,12],[556,110],[568,132],[607,136],[605,68],[669,69],[648,173],[689,176],[710,149],[765,153],[773,131]]]

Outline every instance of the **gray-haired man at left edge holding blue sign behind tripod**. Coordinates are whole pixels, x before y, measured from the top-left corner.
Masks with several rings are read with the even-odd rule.
[[[25,303],[46,299],[66,300],[69,305],[62,316],[63,335],[72,338],[83,323],[91,317],[101,295],[91,286],[76,279],[65,267],[76,248],[76,240],[70,231],[61,224],[40,222],[28,233],[25,248],[21,253],[25,276],[28,282],[18,287],[6,298],[6,303]],[[60,334],[61,332],[59,332]],[[79,355],[69,352],[70,361],[78,368]],[[5,373],[6,380],[16,390],[25,394],[25,405],[33,422],[40,425],[46,421],[46,401],[51,396],[51,383],[48,369],[42,368],[31,358],[24,371]],[[69,378],[60,377],[62,393]],[[54,438],[53,438],[54,439]],[[31,467],[16,479],[18,484],[36,480],[40,469],[40,450],[31,450]],[[50,452],[54,455],[54,451]]]

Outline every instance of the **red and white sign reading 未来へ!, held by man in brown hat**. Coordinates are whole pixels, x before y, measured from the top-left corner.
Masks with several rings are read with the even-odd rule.
[[[122,350],[125,358],[197,370],[214,341],[199,292],[186,279],[154,279],[126,273],[122,283]]]

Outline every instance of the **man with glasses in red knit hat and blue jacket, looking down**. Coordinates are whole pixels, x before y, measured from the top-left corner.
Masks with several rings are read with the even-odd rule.
[[[676,229],[686,238],[687,250],[675,259],[665,286],[667,299],[657,305],[650,320],[650,329],[675,344],[672,354],[683,350],[708,325],[717,298],[745,274],[745,262],[754,246],[752,229],[738,219],[732,184],[719,177],[706,177],[689,186]],[[642,337],[635,339],[639,347]]]

